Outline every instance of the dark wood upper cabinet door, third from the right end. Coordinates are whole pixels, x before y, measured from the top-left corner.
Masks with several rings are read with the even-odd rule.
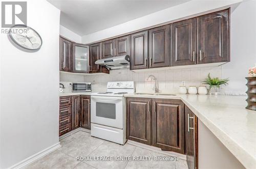
[[[149,30],[150,68],[170,66],[170,25]]]

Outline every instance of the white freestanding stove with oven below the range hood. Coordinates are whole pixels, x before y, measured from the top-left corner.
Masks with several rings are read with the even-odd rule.
[[[118,144],[126,142],[124,94],[134,93],[134,81],[108,82],[106,92],[91,94],[91,135]]]

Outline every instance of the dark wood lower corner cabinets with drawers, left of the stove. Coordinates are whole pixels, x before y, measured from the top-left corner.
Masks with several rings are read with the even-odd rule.
[[[90,96],[63,96],[59,100],[59,136],[79,127],[91,129]]]

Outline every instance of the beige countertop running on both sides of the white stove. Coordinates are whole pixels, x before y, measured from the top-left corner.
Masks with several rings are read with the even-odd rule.
[[[88,92],[59,96],[91,95]],[[181,99],[246,167],[256,168],[256,111],[245,109],[244,96],[124,94],[124,97]]]

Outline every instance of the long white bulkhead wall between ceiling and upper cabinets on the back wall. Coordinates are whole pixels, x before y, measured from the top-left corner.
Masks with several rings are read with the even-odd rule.
[[[121,34],[144,29],[145,27],[154,26],[168,21],[193,16],[195,14],[210,11],[212,9],[222,8],[242,2],[242,0],[222,0],[222,1],[198,1],[193,0],[187,3],[170,7],[105,30],[101,30],[89,35],[82,36],[82,43],[91,43],[102,39],[118,36]]]

